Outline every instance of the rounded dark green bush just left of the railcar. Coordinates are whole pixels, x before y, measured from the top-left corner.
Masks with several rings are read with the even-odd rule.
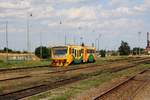
[[[42,51],[42,55],[41,55],[41,51]],[[50,58],[50,51],[51,51],[50,48],[40,46],[35,49],[35,55],[38,56],[39,58],[47,59]]]

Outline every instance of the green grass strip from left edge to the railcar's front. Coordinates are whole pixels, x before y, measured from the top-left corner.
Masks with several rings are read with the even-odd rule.
[[[33,67],[41,65],[49,65],[50,61],[0,61],[0,68],[21,68],[21,67]]]

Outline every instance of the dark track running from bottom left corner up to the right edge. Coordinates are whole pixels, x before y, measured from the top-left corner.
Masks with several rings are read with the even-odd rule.
[[[121,67],[121,68],[120,67],[110,68],[106,71],[111,72],[111,73],[115,73],[115,72],[118,72],[118,71],[122,71],[122,70],[125,70],[125,69],[128,69],[128,68],[134,67],[134,66],[136,66],[140,63],[147,63],[147,62],[149,62],[149,60],[144,59],[144,60],[136,61],[136,62],[134,62],[134,64],[129,64],[129,65],[126,65],[126,66]],[[95,66],[93,66],[93,67],[95,67]],[[73,70],[73,69],[71,69],[71,70]],[[65,70],[65,71],[70,71],[70,70]],[[142,71],[141,73],[144,73],[144,71]],[[10,92],[10,93],[0,94],[0,100],[16,100],[16,99],[25,98],[25,97],[32,96],[32,95],[35,95],[35,94],[38,94],[38,93],[41,93],[41,92],[44,92],[44,91],[48,91],[48,90],[51,90],[51,89],[54,89],[54,88],[57,88],[57,87],[60,87],[60,86],[64,86],[64,85],[67,85],[67,84],[70,84],[70,83],[73,83],[73,82],[77,82],[79,80],[87,79],[91,76],[97,76],[99,74],[101,74],[101,72],[90,74],[90,76],[88,76],[88,75],[79,75],[79,76],[75,76],[75,77],[71,77],[71,78],[67,78],[67,79],[58,80],[58,81],[55,81],[55,82],[47,81],[46,83],[41,84],[41,85],[21,89],[21,90]],[[133,79],[134,77],[132,77],[130,79]],[[130,80],[130,79],[128,79],[128,80]]]

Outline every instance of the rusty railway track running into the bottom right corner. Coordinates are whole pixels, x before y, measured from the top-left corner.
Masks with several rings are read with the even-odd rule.
[[[139,91],[150,82],[150,77],[144,78],[144,76],[142,79],[136,78],[138,75],[142,75],[145,72],[150,72],[150,69],[143,70],[140,73],[127,78],[126,80],[100,93],[100,95],[95,97],[93,100],[132,100]]]

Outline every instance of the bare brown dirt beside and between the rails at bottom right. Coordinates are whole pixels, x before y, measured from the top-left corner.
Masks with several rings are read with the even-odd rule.
[[[103,84],[100,87],[95,87],[91,90],[88,90],[85,93],[78,95],[76,98],[71,98],[71,100],[92,100],[95,97],[99,96],[100,94],[103,94],[104,91],[108,90],[109,88],[113,87],[115,84],[118,84],[125,79],[126,79],[126,77],[113,79],[111,82]],[[116,93],[114,93],[114,94],[112,93],[112,95],[109,98],[107,98],[107,99],[103,98],[102,100],[111,100],[111,98],[113,98],[113,97],[116,98],[117,96],[121,97],[121,98],[123,98],[123,97],[130,98],[130,96],[132,96],[132,94],[134,93],[134,92],[130,93],[131,90],[135,91],[135,89],[136,89],[135,87],[139,87],[140,86],[139,82],[143,79],[145,79],[145,80],[148,79],[148,83],[144,86],[144,88],[139,90],[139,92],[135,95],[135,97],[132,100],[150,100],[150,71],[145,72],[144,74],[138,75],[135,78],[135,80],[133,80],[133,82],[130,82],[130,84],[123,87],[123,90],[125,90],[125,91],[119,92],[119,90],[118,90]],[[120,95],[120,94],[122,94],[122,95]],[[117,98],[114,100],[122,100],[121,98]]]

